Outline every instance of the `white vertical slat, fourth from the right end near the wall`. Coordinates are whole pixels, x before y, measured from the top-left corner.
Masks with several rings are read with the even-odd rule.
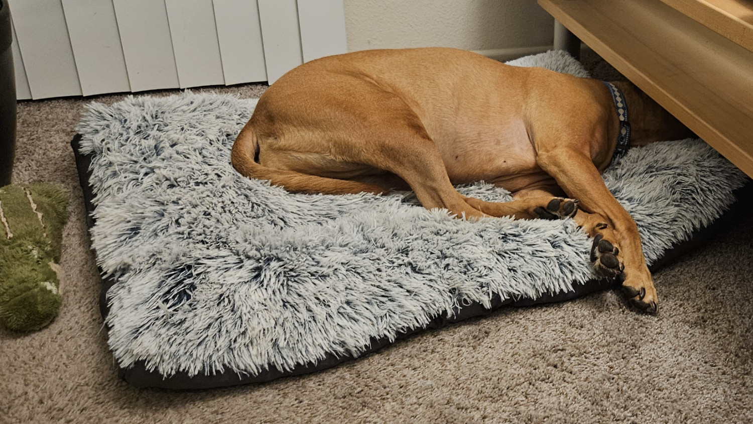
[[[181,88],[224,84],[212,0],[165,0]]]

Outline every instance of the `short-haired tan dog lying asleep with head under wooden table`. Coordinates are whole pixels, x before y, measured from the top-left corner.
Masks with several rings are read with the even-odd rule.
[[[614,84],[630,108],[630,145],[691,135],[632,84]],[[595,238],[596,270],[623,279],[634,302],[656,312],[636,223],[600,175],[619,131],[600,81],[464,50],[367,50],[283,75],[259,99],[232,160],[243,175],[294,192],[410,187],[426,208],[465,218],[572,216]],[[453,188],[481,180],[514,200],[483,202]]]

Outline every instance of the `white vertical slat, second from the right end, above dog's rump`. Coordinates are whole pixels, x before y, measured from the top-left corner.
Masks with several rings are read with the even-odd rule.
[[[296,0],[258,0],[267,81],[303,63]]]

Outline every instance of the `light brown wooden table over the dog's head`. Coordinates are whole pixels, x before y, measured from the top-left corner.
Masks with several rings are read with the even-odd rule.
[[[538,4],[753,177],[753,2]]]

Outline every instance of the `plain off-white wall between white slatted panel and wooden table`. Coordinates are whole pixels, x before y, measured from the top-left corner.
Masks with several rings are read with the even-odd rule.
[[[533,0],[344,0],[344,5],[349,51],[430,46],[504,51],[553,43],[554,21]]]

